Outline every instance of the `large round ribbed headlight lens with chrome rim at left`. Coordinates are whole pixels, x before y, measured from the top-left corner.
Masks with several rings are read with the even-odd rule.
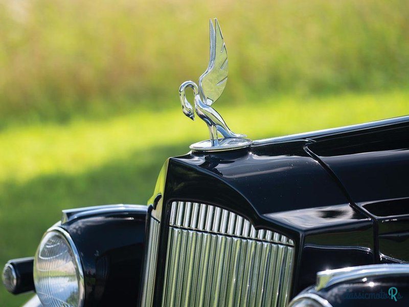
[[[84,277],[77,249],[70,235],[55,227],[41,239],[34,257],[34,285],[46,306],[80,307]]]

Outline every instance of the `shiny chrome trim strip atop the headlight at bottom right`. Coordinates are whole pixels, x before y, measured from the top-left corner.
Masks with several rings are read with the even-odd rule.
[[[315,289],[319,291],[337,283],[365,277],[388,275],[409,275],[409,265],[383,264],[321,271],[316,274]]]

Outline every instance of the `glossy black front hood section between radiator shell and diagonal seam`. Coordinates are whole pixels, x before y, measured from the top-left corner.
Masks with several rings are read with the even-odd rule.
[[[223,182],[241,194],[259,215],[348,204],[336,181],[304,150],[308,142],[297,140],[229,152],[189,153],[172,158],[169,163],[183,164],[192,173],[206,173],[214,181]],[[214,189],[212,193],[222,194],[223,190]]]

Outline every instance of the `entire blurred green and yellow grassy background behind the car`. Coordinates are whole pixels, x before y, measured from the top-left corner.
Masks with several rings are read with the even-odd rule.
[[[406,1],[5,0],[0,264],[33,255],[61,209],[145,204],[165,159],[208,138],[177,89],[207,67],[216,16],[230,75],[214,106],[235,132],[409,113]],[[0,287],[0,306],[28,297]]]

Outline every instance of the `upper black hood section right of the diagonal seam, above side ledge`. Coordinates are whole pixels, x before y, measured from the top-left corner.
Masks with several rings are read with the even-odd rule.
[[[308,149],[333,172],[353,203],[377,216],[402,209],[409,197],[408,123],[313,141]],[[408,211],[409,200],[405,207]]]

